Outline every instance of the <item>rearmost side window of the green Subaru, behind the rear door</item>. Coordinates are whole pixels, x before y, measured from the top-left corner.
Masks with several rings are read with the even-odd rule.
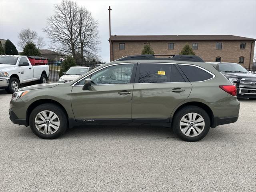
[[[205,81],[213,78],[212,74],[196,66],[178,65],[190,82]]]

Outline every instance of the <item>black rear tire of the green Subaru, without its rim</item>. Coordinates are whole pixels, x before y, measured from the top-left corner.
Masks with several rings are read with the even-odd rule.
[[[182,118],[189,113],[197,113],[199,114],[203,120],[204,120],[204,129],[202,130],[202,132],[197,135],[197,136],[186,136],[180,128],[180,122],[182,120]],[[190,123],[190,122],[189,122]],[[193,124],[194,125],[194,124]],[[186,125],[185,125],[186,126]],[[201,127],[201,126],[200,126]],[[210,130],[210,118],[208,116],[208,114],[206,113],[205,110],[203,110],[200,107],[197,106],[186,106],[184,108],[181,108],[180,110],[178,110],[178,112],[176,112],[176,114],[174,115],[174,120],[172,123],[172,128],[174,133],[181,138],[184,141],[190,141],[190,142],[194,142],[194,141],[199,141],[202,138],[204,138],[206,136],[206,134],[209,132]],[[192,128],[191,128],[192,129]],[[189,128],[188,128],[189,130]],[[194,130],[190,131],[190,133],[194,134]],[[188,133],[189,134],[189,133]],[[196,133],[198,134],[198,132]]]

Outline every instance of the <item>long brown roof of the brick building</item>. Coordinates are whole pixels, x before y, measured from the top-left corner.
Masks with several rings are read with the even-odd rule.
[[[169,40],[252,40],[234,35],[112,35],[112,41],[169,41]]]

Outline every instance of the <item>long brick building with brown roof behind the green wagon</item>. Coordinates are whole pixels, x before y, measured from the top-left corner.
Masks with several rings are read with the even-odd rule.
[[[186,43],[206,62],[234,62],[249,67],[253,64],[255,39],[233,35],[145,35],[111,36],[110,61],[141,54],[150,44],[155,54],[179,54]]]

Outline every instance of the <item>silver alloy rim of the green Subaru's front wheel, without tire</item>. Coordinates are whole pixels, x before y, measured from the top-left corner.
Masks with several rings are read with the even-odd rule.
[[[41,111],[36,115],[35,126],[42,134],[54,134],[60,127],[60,119],[52,111]]]

